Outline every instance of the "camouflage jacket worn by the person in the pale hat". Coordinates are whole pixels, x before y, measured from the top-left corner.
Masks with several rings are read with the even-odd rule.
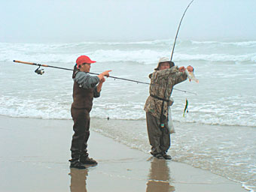
[[[187,80],[187,75],[184,72],[179,72],[177,66],[166,70],[154,71],[149,77],[151,78],[151,86],[149,87],[150,95],[167,101],[172,95],[173,86]],[[163,106],[163,115],[167,118],[169,102],[155,97],[148,97],[144,107],[145,112],[149,112],[151,115],[160,118]]]

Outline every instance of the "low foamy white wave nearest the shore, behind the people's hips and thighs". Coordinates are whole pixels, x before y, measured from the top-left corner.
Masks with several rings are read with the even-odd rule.
[[[138,107],[137,107],[138,108]],[[110,118],[113,120],[145,120],[145,112],[142,106],[139,109],[122,110],[120,107],[115,107],[111,110],[94,107],[90,116],[92,118]],[[181,110],[172,110],[172,118],[174,122],[186,123],[200,123],[211,125],[228,125],[228,126],[243,126],[255,127],[256,115],[240,113],[239,119],[233,118],[233,113],[222,116],[212,114],[208,111],[206,113],[190,112],[185,118],[181,114]],[[217,113],[216,113],[217,114]],[[8,101],[8,105],[3,105],[0,110],[0,115],[6,115],[18,118],[43,118],[43,119],[72,119],[70,115],[70,105],[59,106],[57,104],[47,104],[38,102],[23,102]],[[239,116],[239,115],[238,115]]]

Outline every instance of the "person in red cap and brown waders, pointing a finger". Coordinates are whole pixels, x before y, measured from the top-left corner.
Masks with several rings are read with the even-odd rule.
[[[109,77],[110,71],[104,71],[98,76],[90,76],[90,65],[95,61],[90,60],[87,55],[81,55],[76,60],[72,78],[73,103],[71,107],[72,119],[74,121],[74,135],[72,136],[72,159],[71,168],[85,169],[85,164],[96,164],[96,160],[89,157],[87,152],[87,141],[90,136],[90,110],[93,107],[93,98],[99,98],[104,77]]]

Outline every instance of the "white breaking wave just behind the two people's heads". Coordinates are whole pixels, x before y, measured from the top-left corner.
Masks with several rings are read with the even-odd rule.
[[[169,55],[168,51],[156,51],[151,49],[142,49],[136,51],[103,50],[99,49],[95,52],[87,52],[91,58],[97,62],[138,62],[145,65],[157,63],[160,55]],[[1,52],[0,62],[12,62],[13,60],[40,62],[40,63],[75,63],[75,58],[79,54],[62,54],[62,53],[35,53],[26,54],[24,52]],[[256,52],[242,55],[229,54],[184,54],[175,52],[173,56],[175,62],[256,62]]]

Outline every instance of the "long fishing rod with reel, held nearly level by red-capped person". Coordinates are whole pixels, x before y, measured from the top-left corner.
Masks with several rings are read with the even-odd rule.
[[[22,61],[18,61],[18,60],[14,60],[14,62],[16,63],[22,63],[22,64],[27,64],[27,65],[35,65],[35,66],[38,66],[38,68],[35,70],[35,73],[36,74],[44,74],[44,69],[41,69],[41,67],[45,67],[45,68],[56,68],[56,69],[62,69],[62,70],[67,70],[67,71],[78,71],[78,70],[74,70],[74,69],[69,69],[69,68],[59,68],[59,67],[56,67],[56,66],[51,66],[51,65],[44,65],[44,64],[38,64],[38,63],[32,63],[32,62],[22,62]],[[96,73],[87,73],[87,74],[93,74],[93,75],[99,75],[99,74],[96,74]],[[134,82],[134,83],[142,83],[142,84],[146,84],[146,85],[151,85],[151,83],[145,83],[145,82],[141,82],[141,81],[136,81],[136,80],[129,80],[129,79],[125,79],[125,78],[121,78],[121,77],[114,77],[114,76],[109,76],[110,78],[113,78],[114,80],[126,80],[126,81],[130,81],[130,82]],[[184,91],[184,90],[181,90],[181,89],[175,89],[179,92],[186,92],[186,93],[190,93],[190,94],[194,94],[194,95],[197,95],[195,94],[194,92],[187,92],[187,91]]]

